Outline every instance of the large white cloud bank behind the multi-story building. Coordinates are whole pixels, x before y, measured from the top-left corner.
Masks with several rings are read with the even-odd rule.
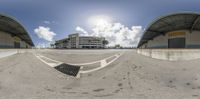
[[[84,29],[79,27],[78,30]],[[91,33],[84,30],[82,35],[105,37],[109,41],[108,46],[120,44],[123,47],[136,47],[142,36],[142,26],[128,28],[121,23],[106,23],[94,26]]]

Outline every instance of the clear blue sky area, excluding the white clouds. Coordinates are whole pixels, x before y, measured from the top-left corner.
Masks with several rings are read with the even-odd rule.
[[[159,16],[175,12],[200,12],[198,0],[1,0],[0,13],[18,19],[37,45],[49,41],[39,38],[35,29],[48,27],[53,41],[75,33],[81,27],[92,31],[88,18],[108,16],[113,23],[145,29]],[[108,32],[109,33],[109,32]],[[134,33],[134,32],[131,32]],[[142,32],[140,32],[141,34]]]

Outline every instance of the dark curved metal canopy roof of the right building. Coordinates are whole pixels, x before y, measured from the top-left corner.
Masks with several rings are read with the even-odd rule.
[[[158,18],[144,32],[138,48],[156,36],[176,30],[200,30],[200,13],[176,13]]]

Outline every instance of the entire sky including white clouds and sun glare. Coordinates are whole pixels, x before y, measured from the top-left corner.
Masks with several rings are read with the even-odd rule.
[[[153,20],[177,12],[200,13],[200,1],[0,0],[0,13],[20,21],[36,46],[80,33],[135,47]]]

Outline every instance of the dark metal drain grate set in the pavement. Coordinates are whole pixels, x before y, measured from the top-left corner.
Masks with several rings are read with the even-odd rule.
[[[65,64],[65,63],[60,64],[54,68],[64,74],[67,74],[70,76],[76,76],[80,70],[80,66],[74,66],[74,65],[69,65],[69,64]]]

